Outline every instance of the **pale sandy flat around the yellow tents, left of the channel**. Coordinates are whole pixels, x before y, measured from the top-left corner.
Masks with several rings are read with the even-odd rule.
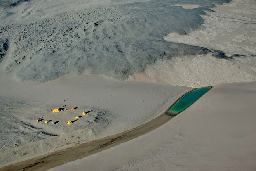
[[[191,89],[85,75],[68,75],[43,84],[7,78],[2,75],[0,83],[0,160],[5,165],[139,126],[162,114]],[[63,105],[67,111],[50,111]],[[78,108],[71,111],[72,107]],[[83,111],[91,112],[82,116]],[[77,120],[76,116],[82,117]],[[37,123],[41,117],[44,120]],[[68,120],[77,121],[67,125]],[[52,125],[55,121],[58,123]]]

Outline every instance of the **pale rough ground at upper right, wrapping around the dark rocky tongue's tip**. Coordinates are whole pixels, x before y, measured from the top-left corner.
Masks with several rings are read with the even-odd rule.
[[[197,7],[176,5],[186,9]],[[256,81],[255,9],[254,0],[232,0],[216,5],[201,15],[204,22],[199,28],[190,29],[186,34],[171,32],[163,36],[170,42],[207,48],[210,53],[158,59],[147,66],[145,73],[134,74],[128,80],[190,87]],[[226,58],[215,58],[215,50],[225,53]]]

